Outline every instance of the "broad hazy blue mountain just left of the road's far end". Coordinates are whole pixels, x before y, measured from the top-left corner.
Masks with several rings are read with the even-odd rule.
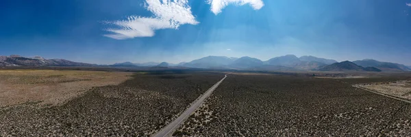
[[[225,56],[208,56],[185,63],[184,66],[196,68],[222,68],[234,63],[235,60],[235,58]]]

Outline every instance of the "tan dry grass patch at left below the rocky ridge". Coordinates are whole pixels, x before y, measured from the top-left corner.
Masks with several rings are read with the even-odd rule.
[[[118,85],[132,73],[75,70],[0,70],[0,106],[59,105],[92,87]]]

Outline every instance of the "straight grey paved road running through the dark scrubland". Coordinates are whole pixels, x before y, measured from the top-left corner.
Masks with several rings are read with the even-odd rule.
[[[155,134],[155,137],[164,137],[164,136],[171,136],[173,134],[173,132],[179,127],[179,125],[181,125],[184,121],[186,121],[186,119],[193,113],[195,112],[195,110],[197,110],[197,108],[199,108],[201,106],[201,104],[203,104],[204,100],[206,100],[206,98],[208,96],[211,95],[212,91],[214,91],[217,87],[219,87],[219,85],[221,84],[221,82],[223,82],[223,80],[227,78],[227,74],[225,74],[224,78],[221,79],[219,82],[217,82],[215,85],[213,85],[210,89],[208,89],[208,91],[206,91],[206,93],[204,93],[199,100],[197,100],[197,102],[195,102],[194,104],[192,104],[190,106],[190,108],[187,108],[182,115],[180,115],[179,117],[177,117],[177,119],[175,119],[173,122],[169,123],[169,125],[167,125],[166,127],[164,127],[162,130],[160,130],[160,132],[158,132],[157,134]]]

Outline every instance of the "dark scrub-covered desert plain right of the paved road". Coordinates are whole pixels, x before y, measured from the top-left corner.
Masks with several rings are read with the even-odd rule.
[[[352,84],[401,78],[229,75],[175,136],[411,136],[411,106]]]

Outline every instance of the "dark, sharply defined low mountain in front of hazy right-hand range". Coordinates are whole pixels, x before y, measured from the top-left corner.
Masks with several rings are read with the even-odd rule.
[[[345,71],[372,71],[381,72],[381,70],[375,67],[362,67],[356,63],[350,61],[343,61],[340,63],[333,63],[331,65],[326,65],[319,69],[320,71],[332,71],[332,72],[345,72]]]

